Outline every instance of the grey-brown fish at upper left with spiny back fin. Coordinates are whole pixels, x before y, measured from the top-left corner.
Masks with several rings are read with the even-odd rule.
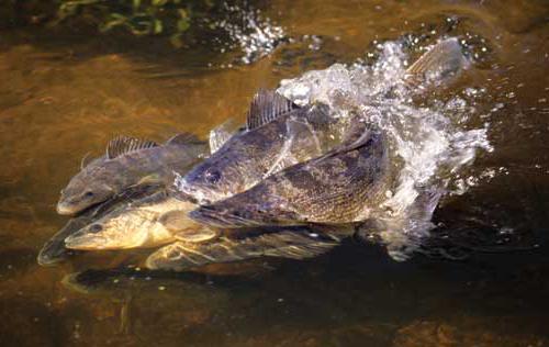
[[[188,170],[209,154],[208,144],[194,135],[178,134],[163,145],[119,136],[107,154],[87,163],[61,190],[57,213],[76,215],[135,186],[161,182],[170,186],[173,171]]]

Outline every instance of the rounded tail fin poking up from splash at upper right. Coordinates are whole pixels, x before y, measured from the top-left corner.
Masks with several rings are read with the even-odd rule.
[[[442,80],[458,74],[467,64],[457,38],[447,38],[436,44],[419,57],[407,70],[411,82]]]

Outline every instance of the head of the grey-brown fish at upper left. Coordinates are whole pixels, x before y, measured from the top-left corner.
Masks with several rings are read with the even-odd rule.
[[[57,213],[74,215],[115,194],[115,177],[107,170],[82,170],[61,190]]]

